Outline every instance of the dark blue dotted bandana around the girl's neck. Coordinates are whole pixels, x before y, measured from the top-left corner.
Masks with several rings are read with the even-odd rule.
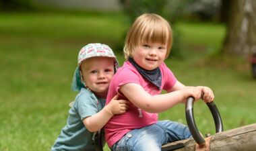
[[[150,83],[158,87],[158,89],[161,89],[162,85],[162,73],[160,71],[160,68],[155,68],[154,70],[146,70],[144,68],[141,68],[134,60],[133,58],[129,58],[129,62],[133,64],[133,66],[137,69],[137,71]]]

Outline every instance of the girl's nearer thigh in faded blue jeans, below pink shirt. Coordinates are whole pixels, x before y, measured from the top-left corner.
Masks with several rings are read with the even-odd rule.
[[[157,124],[149,125],[141,129],[128,132],[119,142],[113,151],[161,151],[164,130]]]

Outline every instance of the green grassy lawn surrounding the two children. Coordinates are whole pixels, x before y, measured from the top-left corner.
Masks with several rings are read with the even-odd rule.
[[[65,125],[77,52],[90,42],[121,51],[128,25],[122,14],[0,14],[0,150],[50,150]],[[255,123],[255,79],[249,64],[234,56],[212,58],[222,46],[225,29],[211,23],[177,23],[182,58],[166,64],[185,85],[214,90],[224,129]],[[175,34],[175,31],[174,31]],[[123,63],[122,54],[116,53]],[[194,107],[197,127],[214,134],[214,123],[202,101]],[[185,121],[185,105],[160,119]]]

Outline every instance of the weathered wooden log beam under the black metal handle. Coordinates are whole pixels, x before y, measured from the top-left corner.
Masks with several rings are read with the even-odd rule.
[[[214,136],[210,136],[209,149],[201,148],[202,150],[210,151],[256,151],[256,123],[246,125],[241,128],[220,132]],[[207,142],[207,141],[205,141]],[[172,142],[162,146],[162,151],[194,151],[197,143],[193,138]],[[176,148],[176,149],[173,149]]]

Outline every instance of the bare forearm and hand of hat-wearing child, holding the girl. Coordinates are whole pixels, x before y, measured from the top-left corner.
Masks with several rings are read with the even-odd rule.
[[[96,132],[103,128],[103,126],[108,122],[108,120],[115,114],[125,113],[128,108],[128,101],[117,100],[118,95],[113,97],[113,99],[98,113],[86,117],[83,119],[83,123],[90,132]]]

